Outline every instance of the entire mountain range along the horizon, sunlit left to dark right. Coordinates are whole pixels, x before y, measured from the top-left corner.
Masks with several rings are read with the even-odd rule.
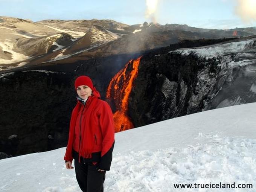
[[[73,63],[113,54],[134,54],[169,46],[185,39],[256,35],[255,27],[217,30],[190,27],[185,24],[161,25],[145,22],[128,26],[113,20],[97,19],[33,22],[1,16],[0,30],[0,70],[15,67],[25,69],[51,62]],[[58,34],[66,34],[62,40],[65,41],[64,43],[59,44],[49,40],[48,37],[57,37]],[[44,46],[46,48],[42,48]],[[28,51],[26,47],[29,47]]]

